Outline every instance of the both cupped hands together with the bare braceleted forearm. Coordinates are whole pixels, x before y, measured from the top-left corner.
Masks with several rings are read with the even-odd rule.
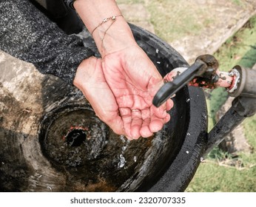
[[[101,24],[105,18],[121,14],[114,0],[98,0],[97,4],[77,0],[74,7],[90,33],[94,31],[95,44],[104,57],[102,67],[99,59],[84,61],[81,65],[84,69],[78,68],[74,84],[115,133],[130,140],[152,136],[169,121],[166,111],[173,106],[171,100],[159,108],[152,105],[155,93],[164,84],[163,78],[136,44],[122,16]],[[90,71],[86,72],[85,64],[94,66],[90,65]]]

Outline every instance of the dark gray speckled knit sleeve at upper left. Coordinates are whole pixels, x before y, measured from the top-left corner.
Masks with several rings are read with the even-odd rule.
[[[93,55],[80,38],[66,35],[29,0],[0,1],[0,50],[73,84],[78,65]]]

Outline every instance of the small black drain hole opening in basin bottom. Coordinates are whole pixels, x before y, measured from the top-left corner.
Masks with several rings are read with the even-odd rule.
[[[83,129],[73,129],[66,135],[66,140],[69,146],[81,146],[86,138],[87,135]]]

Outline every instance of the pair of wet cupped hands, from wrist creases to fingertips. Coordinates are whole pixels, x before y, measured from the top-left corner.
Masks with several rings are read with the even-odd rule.
[[[107,55],[102,62],[94,57],[82,61],[74,80],[98,118],[129,140],[147,138],[169,121],[171,100],[159,108],[152,105],[161,83],[161,75],[139,47]]]

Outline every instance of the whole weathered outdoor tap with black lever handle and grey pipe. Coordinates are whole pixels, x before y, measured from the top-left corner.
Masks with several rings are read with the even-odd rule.
[[[236,66],[229,72],[220,72],[218,66],[218,61],[212,55],[201,55],[189,68],[173,69],[164,77],[166,84],[155,95],[155,103],[153,101],[155,106],[160,106],[184,84],[209,89],[224,87],[230,96],[236,97],[231,108],[209,132],[204,155],[217,146],[245,118],[256,113],[256,70]]]

